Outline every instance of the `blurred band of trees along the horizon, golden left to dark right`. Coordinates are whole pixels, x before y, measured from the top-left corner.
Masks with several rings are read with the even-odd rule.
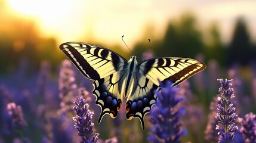
[[[37,70],[43,60],[50,61],[53,67],[58,67],[60,61],[65,58],[59,51],[55,39],[42,38],[33,21],[24,22],[21,17],[2,20],[3,25],[7,27],[0,29],[1,74],[15,71],[22,59],[29,62],[28,70]],[[206,36],[203,33],[207,33]],[[145,39],[135,45],[132,50],[134,54],[146,45]],[[131,55],[118,45],[103,46],[114,49],[127,59]],[[232,41],[228,46],[221,42],[217,23],[213,23],[209,30],[203,32],[196,23],[196,17],[186,13],[181,15],[179,20],[169,21],[164,38],[151,42],[147,48],[150,48],[156,57],[196,58],[198,54],[202,54],[205,63],[215,60],[220,66],[231,66],[233,63],[245,65],[256,60],[256,45],[251,43],[246,23],[242,18],[236,23]],[[144,51],[147,49],[143,49],[136,56],[141,59],[141,53]]]

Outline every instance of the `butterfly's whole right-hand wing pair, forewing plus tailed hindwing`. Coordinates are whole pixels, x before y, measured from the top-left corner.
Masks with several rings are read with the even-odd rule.
[[[144,116],[156,102],[155,91],[160,91],[159,80],[170,80],[178,85],[193,74],[205,69],[204,63],[189,58],[152,58],[138,63],[138,73],[134,75],[134,89],[125,105],[128,120],[137,117],[144,129]]]

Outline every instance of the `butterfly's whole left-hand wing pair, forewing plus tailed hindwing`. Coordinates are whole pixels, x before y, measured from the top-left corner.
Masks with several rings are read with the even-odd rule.
[[[127,65],[127,60],[109,49],[81,42],[67,42],[60,49],[88,79],[95,80],[95,104],[101,108],[100,123],[104,114],[115,118],[122,104],[118,83],[122,79],[119,72]],[[121,83],[121,82],[120,82]],[[119,83],[119,84],[120,84]]]

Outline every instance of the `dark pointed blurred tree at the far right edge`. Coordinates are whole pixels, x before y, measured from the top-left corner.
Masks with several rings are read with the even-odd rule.
[[[234,63],[242,65],[248,64],[252,58],[255,58],[255,50],[252,49],[252,43],[247,31],[246,23],[243,18],[239,18],[236,22],[232,41],[229,49],[227,49],[227,65]]]

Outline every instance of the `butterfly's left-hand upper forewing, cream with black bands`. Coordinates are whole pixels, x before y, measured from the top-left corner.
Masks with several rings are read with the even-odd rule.
[[[82,42],[67,42],[60,49],[88,79],[102,79],[122,70],[127,60],[115,52]]]

